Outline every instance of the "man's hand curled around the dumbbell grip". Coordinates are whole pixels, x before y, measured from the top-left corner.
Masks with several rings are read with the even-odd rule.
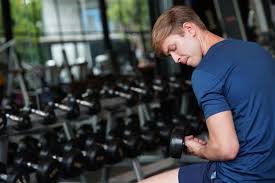
[[[200,154],[200,149],[205,148],[207,142],[204,140],[198,139],[194,137],[193,135],[186,136],[184,138],[185,145],[187,147],[187,151],[191,153],[192,155],[199,156],[201,158],[202,155]]]

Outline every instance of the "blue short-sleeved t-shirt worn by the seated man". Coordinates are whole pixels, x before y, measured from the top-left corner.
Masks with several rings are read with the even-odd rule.
[[[235,160],[217,161],[225,182],[275,182],[275,61],[256,43],[213,45],[192,75],[205,118],[231,110],[240,143]],[[222,121],[221,121],[222,123]]]

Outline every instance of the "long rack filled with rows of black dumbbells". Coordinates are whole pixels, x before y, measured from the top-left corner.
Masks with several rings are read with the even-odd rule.
[[[193,135],[205,130],[193,114],[180,114],[186,92],[190,85],[173,77],[150,83],[122,78],[104,83],[98,92],[67,94],[42,109],[19,108],[9,100],[1,110],[0,182],[70,182],[75,177],[91,182],[84,171],[101,171],[101,182],[123,182],[123,175],[142,180],[154,173],[143,162],[181,154],[182,141],[171,145],[173,128],[188,128]],[[112,167],[125,163],[132,167],[132,178],[127,172],[110,178]]]

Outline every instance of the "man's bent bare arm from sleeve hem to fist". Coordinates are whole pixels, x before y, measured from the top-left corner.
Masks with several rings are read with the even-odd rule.
[[[187,140],[189,151],[199,157],[212,161],[226,161],[236,158],[239,141],[231,111],[224,111],[207,118],[209,140],[203,145],[196,140]]]

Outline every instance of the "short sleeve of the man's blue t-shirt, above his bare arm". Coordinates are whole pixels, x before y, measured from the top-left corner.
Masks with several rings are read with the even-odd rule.
[[[223,82],[214,75],[195,70],[192,75],[192,87],[205,119],[216,113],[230,110],[223,94]]]

